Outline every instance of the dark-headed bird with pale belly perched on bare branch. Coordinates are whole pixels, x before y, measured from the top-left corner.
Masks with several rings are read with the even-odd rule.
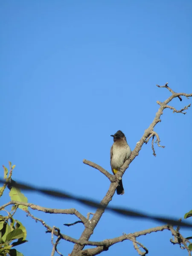
[[[131,155],[131,148],[127,144],[125,134],[122,131],[117,131],[113,137],[113,145],[110,151],[110,164],[113,174],[115,175],[125,161]],[[122,180],[119,181],[119,186],[116,188],[117,195],[123,195],[124,189],[122,185]]]

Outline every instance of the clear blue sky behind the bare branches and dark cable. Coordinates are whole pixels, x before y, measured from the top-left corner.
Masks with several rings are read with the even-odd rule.
[[[102,200],[108,179],[85,166],[93,161],[110,169],[111,134],[121,129],[133,150],[157,112],[165,88],[191,93],[192,2],[148,1],[1,1],[0,104],[1,165],[16,165],[13,179]],[[174,99],[177,109],[192,102]],[[155,131],[162,145],[144,145],[123,176],[125,195],[110,205],[149,214],[183,217],[191,206],[192,109],[186,115],[166,110]],[[3,177],[3,169],[1,173]],[[50,208],[94,209],[27,192],[30,203]],[[1,204],[9,201],[8,191]],[[79,238],[83,227],[74,216],[32,212],[50,226]],[[44,227],[18,210],[27,228],[25,256],[50,255]],[[91,241],[121,236],[160,223],[105,212]],[[182,229],[184,236],[190,230]],[[140,237],[150,255],[184,256],[168,231]],[[33,250],[34,248],[34,250]],[[68,255],[73,244],[61,241]],[[106,256],[137,255],[131,242],[113,245]]]

